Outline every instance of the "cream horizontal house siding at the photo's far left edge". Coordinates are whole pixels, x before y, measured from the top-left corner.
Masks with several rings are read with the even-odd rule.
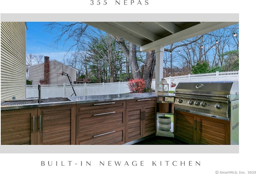
[[[26,98],[26,22],[1,22],[1,101]]]

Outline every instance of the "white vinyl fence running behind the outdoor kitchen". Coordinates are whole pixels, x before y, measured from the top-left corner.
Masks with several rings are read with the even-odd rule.
[[[239,71],[214,72],[206,74],[188,74],[185,76],[174,76],[165,78],[171,84],[178,85],[179,82],[196,82],[196,81],[238,81]],[[122,94],[130,92],[128,82],[115,83],[92,83],[92,84],[74,84],[76,96],[91,96],[103,94]],[[169,88],[174,91],[175,87]],[[155,90],[155,80],[152,80],[151,88]],[[41,84],[41,97],[69,97],[75,96],[70,84]],[[26,98],[38,98],[38,84],[26,86]]]

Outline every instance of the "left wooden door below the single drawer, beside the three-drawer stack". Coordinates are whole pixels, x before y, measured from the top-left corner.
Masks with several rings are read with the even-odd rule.
[[[142,138],[143,107],[126,108],[126,142]]]

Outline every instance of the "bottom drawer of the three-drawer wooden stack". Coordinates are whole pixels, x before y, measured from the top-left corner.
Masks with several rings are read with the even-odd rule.
[[[124,144],[125,126],[76,138],[76,144]]]

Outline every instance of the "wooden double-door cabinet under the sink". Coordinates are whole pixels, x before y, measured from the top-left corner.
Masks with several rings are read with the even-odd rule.
[[[1,144],[75,144],[76,105],[1,111]]]

